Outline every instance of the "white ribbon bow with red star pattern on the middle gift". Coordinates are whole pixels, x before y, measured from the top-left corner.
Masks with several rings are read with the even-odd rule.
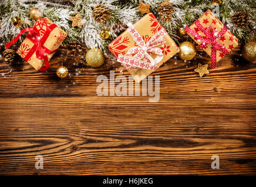
[[[164,36],[167,34],[166,30],[163,28],[159,30],[147,43],[134,26],[130,26],[127,31],[133,37],[137,47],[130,48],[125,55],[119,54],[117,61],[127,69],[146,68],[152,71],[157,70],[157,63],[163,59],[163,52],[157,46],[166,43],[166,40],[164,40]],[[156,54],[156,58],[152,58],[150,54]]]

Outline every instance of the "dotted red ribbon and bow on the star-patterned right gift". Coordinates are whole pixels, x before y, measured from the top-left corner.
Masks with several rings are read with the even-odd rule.
[[[190,33],[191,35],[196,37],[197,40],[203,41],[203,43],[199,45],[201,48],[206,47],[208,43],[211,44],[211,68],[214,69],[216,68],[216,51],[220,50],[225,55],[228,54],[228,50],[225,49],[223,44],[217,41],[219,37],[223,36],[223,34],[227,32],[227,27],[225,27],[224,25],[223,29],[221,29],[221,31],[217,33],[215,32],[212,26],[204,28],[198,19],[196,20],[195,24],[198,27],[198,29],[206,35],[206,37],[201,36],[195,30],[190,29],[190,27],[188,26],[186,26],[186,31],[187,33]]]

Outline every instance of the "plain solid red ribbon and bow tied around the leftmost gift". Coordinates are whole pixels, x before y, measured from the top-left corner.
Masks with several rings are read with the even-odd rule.
[[[43,60],[43,63],[45,64],[43,67],[41,67],[39,69],[39,71],[46,71],[49,68],[49,61],[48,61],[47,54],[55,53],[57,49],[49,50],[45,46],[43,46],[43,44],[48,39],[50,32],[52,32],[52,30],[55,29],[55,27],[57,27],[57,25],[55,25],[54,23],[52,25],[50,25],[46,29],[42,38],[40,37],[40,33],[39,33],[38,29],[36,29],[35,26],[30,27],[30,28],[25,28],[18,34],[18,36],[15,37],[14,40],[12,40],[8,44],[6,44],[5,47],[6,47],[6,49],[8,49],[10,46],[12,46],[12,44],[14,44],[14,43],[16,43],[16,41],[18,41],[19,37],[21,37],[21,35],[23,33],[29,32],[26,37],[28,37],[28,39],[31,40],[34,45],[31,48],[31,50],[28,52],[28,54],[26,54],[26,56],[24,57],[24,60],[28,61],[29,58],[33,55],[33,53],[36,52],[36,58],[38,58],[39,60]]]

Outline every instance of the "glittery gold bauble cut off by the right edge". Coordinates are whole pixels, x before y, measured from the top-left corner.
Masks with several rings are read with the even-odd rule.
[[[250,62],[256,61],[256,41],[249,41],[242,47],[242,57]]]

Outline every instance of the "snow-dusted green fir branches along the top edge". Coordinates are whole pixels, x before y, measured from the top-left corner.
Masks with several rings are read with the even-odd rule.
[[[165,0],[147,0],[143,1],[145,4],[150,4],[150,11],[152,11],[157,19],[160,20],[160,15],[157,11],[158,6]],[[10,15],[19,16],[22,18],[23,27],[30,27],[34,24],[33,19],[28,19],[29,11],[32,8],[38,7],[44,15],[48,15],[50,20],[56,23],[62,28],[68,36],[65,39],[65,43],[71,43],[73,41],[79,41],[86,44],[87,47],[98,47],[106,52],[106,46],[109,45],[109,40],[100,39],[99,33],[103,29],[96,21],[93,20],[92,10],[97,4],[105,5],[109,8],[113,18],[108,19],[106,29],[109,30],[110,36],[117,37],[120,33],[114,32],[113,25],[117,22],[122,23],[134,23],[141,18],[141,14],[138,13],[135,5],[140,1],[134,0],[79,0],[79,1],[45,1],[45,0],[5,0],[0,1],[0,12],[2,23],[0,27],[0,41],[6,44],[16,36],[17,29],[14,28],[10,22]],[[180,37],[179,29],[184,27],[186,23],[193,23],[196,18],[201,16],[202,10],[211,8],[212,1],[169,1],[175,12],[171,20],[164,24],[164,28],[170,34],[170,36],[176,41],[176,43],[182,43],[187,40]],[[252,39],[252,28],[256,25],[256,9],[251,8],[255,0],[247,1],[234,1],[225,0],[220,5],[220,17],[218,17],[227,29],[239,40],[248,41]],[[250,15],[249,25],[246,29],[240,29],[231,22],[232,12],[247,12]],[[72,27],[70,16],[75,16],[76,13],[80,13],[82,18],[82,28],[77,29]],[[83,19],[84,18],[84,19]],[[209,20],[210,21],[210,20]],[[70,24],[71,22],[71,24]],[[4,29],[3,29],[4,28]],[[112,29],[113,28],[113,29]],[[182,38],[182,39],[181,39]],[[191,39],[191,38],[190,38]]]

